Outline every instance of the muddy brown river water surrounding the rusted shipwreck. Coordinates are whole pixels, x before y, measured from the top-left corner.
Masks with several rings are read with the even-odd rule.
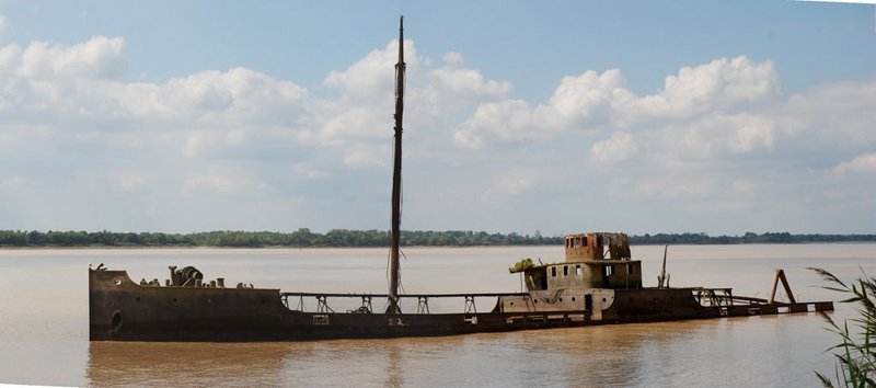
[[[406,293],[518,292],[507,269],[522,256],[562,260],[562,247],[407,248]],[[645,286],[662,247],[633,247]],[[0,383],[62,386],[817,387],[839,342],[816,313],[396,340],[298,343],[88,341],[88,266],[135,281],[169,264],[206,278],[289,292],[385,293],[385,249],[0,250]],[[733,287],[768,297],[785,270],[803,300],[838,300],[818,266],[842,279],[876,274],[876,244],[673,246],[672,286]],[[780,287],[781,289],[781,287]],[[495,300],[493,300],[495,303]],[[462,304],[460,301],[460,304]],[[382,301],[374,305],[381,308]],[[433,312],[463,306],[430,306]],[[479,310],[493,306],[479,300]],[[403,306],[405,310],[415,307]],[[336,308],[338,309],[338,308]],[[834,319],[853,315],[837,304]],[[437,310],[437,311],[436,311]]]

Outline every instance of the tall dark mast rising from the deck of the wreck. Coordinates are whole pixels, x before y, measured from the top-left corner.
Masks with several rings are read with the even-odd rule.
[[[395,64],[395,147],[392,166],[392,231],[390,236],[390,292],[387,313],[400,313],[399,238],[402,224],[402,113],[404,112],[404,16],[399,19],[399,62]]]

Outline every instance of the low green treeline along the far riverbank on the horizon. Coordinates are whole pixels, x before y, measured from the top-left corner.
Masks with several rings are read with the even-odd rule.
[[[876,235],[792,235],[747,232],[742,236],[657,233],[631,236],[632,244],[733,244],[876,241]],[[301,228],[292,232],[208,231],[200,233],[113,231],[0,230],[0,247],[388,247],[384,230],[333,229],[326,233]],[[562,244],[562,237],[487,233],[485,231],[402,231],[402,246],[479,247]]]

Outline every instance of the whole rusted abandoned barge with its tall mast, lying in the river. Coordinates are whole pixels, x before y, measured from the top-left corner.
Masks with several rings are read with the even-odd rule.
[[[388,294],[284,293],[244,284],[226,287],[205,281],[198,270],[170,267],[170,278],[135,283],[125,271],[89,267],[89,338],[92,341],[301,341],[321,339],[451,335],[590,324],[672,321],[828,311],[831,301],[798,303],[781,271],[769,299],[735,296],[730,288],[644,287],[642,263],[633,260],[626,235],[591,232],[565,238],[565,261],[521,261],[526,292],[495,294],[399,294],[404,32],[399,31],[395,65],[395,126],[392,186],[390,285]],[[664,258],[664,266],[666,263]],[[775,301],[782,282],[788,303]],[[315,299],[306,311],[304,298]],[[330,299],[361,299],[360,307],[334,311]],[[403,312],[402,299],[416,299],[416,312]],[[431,313],[429,300],[457,298],[462,310]],[[475,298],[495,298],[477,312]],[[385,300],[374,311],[372,300]]]

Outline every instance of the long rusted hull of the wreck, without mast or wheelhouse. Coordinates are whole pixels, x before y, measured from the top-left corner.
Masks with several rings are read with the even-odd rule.
[[[703,306],[695,288],[625,289],[611,305],[550,305],[548,296],[496,294],[491,312],[374,313],[299,311],[278,289],[138,285],[125,271],[89,270],[92,341],[306,341],[454,335],[590,324],[704,319],[832,309],[832,305]],[[484,295],[479,295],[483,297]],[[377,295],[376,295],[377,297]],[[508,304],[541,300],[517,310]],[[670,300],[671,298],[671,300]],[[556,297],[554,296],[554,299]],[[601,300],[601,299],[600,299]]]

